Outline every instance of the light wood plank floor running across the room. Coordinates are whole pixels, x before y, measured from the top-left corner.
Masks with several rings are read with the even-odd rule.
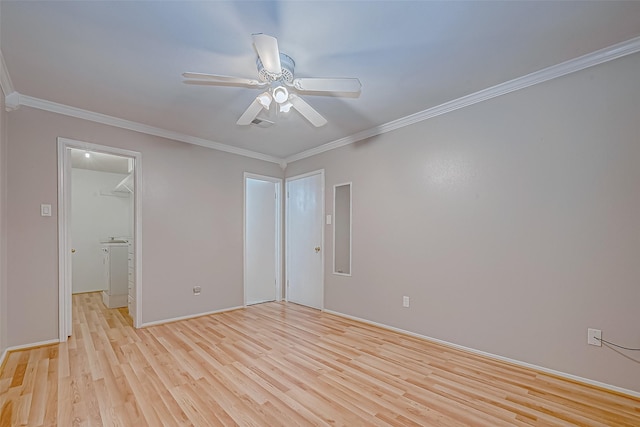
[[[293,304],[134,330],[73,303],[67,343],[8,355],[2,426],[640,426],[638,399]]]

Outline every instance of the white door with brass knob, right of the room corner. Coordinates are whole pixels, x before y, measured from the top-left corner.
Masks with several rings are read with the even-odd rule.
[[[287,197],[287,300],[321,309],[324,171],[289,178]]]

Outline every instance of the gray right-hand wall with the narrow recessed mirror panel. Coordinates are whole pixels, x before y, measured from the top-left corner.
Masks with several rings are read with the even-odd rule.
[[[300,160],[353,181],[325,308],[640,392],[640,55]],[[332,247],[331,226],[325,246]],[[411,307],[402,307],[402,296]]]

